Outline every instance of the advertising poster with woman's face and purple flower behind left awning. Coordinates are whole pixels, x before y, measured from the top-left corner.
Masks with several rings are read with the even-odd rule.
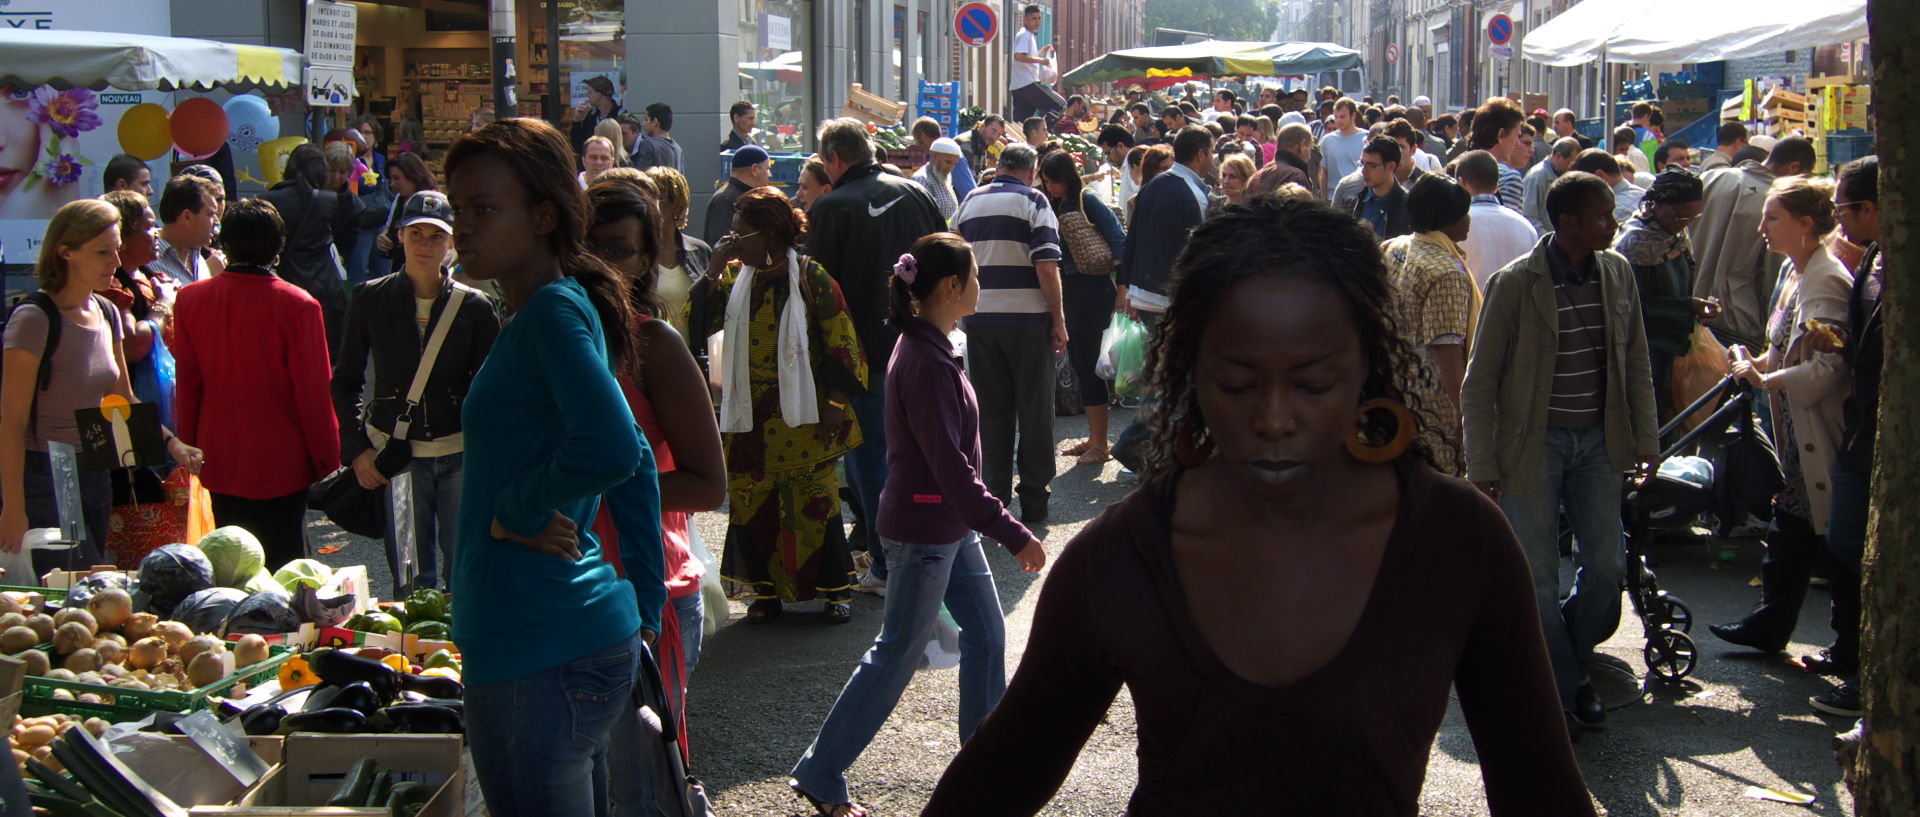
[[[154,0],[13,0],[0,25],[169,35],[169,4]],[[4,58],[0,58],[4,61]],[[100,196],[102,173],[123,153],[121,115],[173,94],[0,82],[0,261],[31,265],[46,221],[67,201]],[[165,161],[150,163],[165,173]],[[163,178],[163,176],[161,176]]]

